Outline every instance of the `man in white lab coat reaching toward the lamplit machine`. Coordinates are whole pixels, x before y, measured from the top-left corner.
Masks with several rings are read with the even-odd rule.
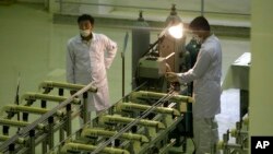
[[[197,62],[185,73],[167,72],[170,82],[189,83],[193,81],[193,138],[195,153],[218,153],[217,122],[215,115],[221,112],[222,49],[218,38],[211,34],[209,22],[203,16],[195,17],[189,28],[199,37],[202,45]]]

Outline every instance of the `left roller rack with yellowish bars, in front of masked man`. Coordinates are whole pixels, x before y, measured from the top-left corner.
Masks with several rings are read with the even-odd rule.
[[[7,105],[2,108],[0,152],[35,153],[38,144],[41,145],[39,153],[54,149],[55,132],[59,132],[59,141],[72,134],[71,120],[81,111],[76,109],[81,106],[81,99],[75,96],[85,92],[96,92],[96,87],[92,84],[84,87],[50,81],[43,82],[40,88],[44,88],[44,92],[24,94],[20,105]],[[57,95],[49,94],[54,88],[57,88]],[[74,96],[64,97],[64,90],[81,91]],[[16,120],[15,115],[20,117]],[[86,116],[84,114],[85,121]],[[21,117],[23,117],[22,120]]]

